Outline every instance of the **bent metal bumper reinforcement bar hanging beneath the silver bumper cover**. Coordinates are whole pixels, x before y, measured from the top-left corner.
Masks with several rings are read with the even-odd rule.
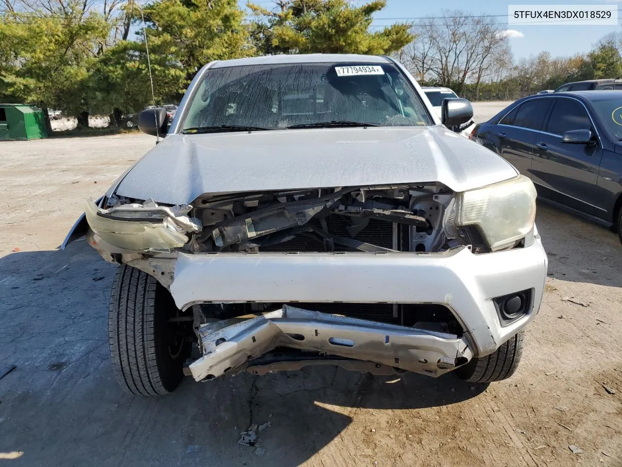
[[[376,362],[439,376],[471,359],[453,334],[346,318],[292,306],[256,318],[203,324],[204,355],[190,364],[195,380],[211,379],[284,346]]]

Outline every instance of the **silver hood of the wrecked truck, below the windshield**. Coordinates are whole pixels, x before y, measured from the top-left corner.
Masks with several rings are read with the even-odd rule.
[[[440,125],[170,134],[108,196],[187,204],[205,193],[413,182],[465,191],[517,174]]]

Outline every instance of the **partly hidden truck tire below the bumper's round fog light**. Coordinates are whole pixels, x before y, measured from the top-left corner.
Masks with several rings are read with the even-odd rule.
[[[523,338],[524,331],[519,331],[492,354],[471,359],[465,366],[456,369],[458,377],[473,383],[491,383],[509,378],[521,361]]]

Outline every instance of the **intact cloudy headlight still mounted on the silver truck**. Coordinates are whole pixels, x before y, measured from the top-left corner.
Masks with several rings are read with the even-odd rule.
[[[524,175],[494,185],[458,193],[445,212],[443,227],[456,238],[461,227],[478,228],[491,251],[502,250],[525,237],[536,221],[536,187]]]

